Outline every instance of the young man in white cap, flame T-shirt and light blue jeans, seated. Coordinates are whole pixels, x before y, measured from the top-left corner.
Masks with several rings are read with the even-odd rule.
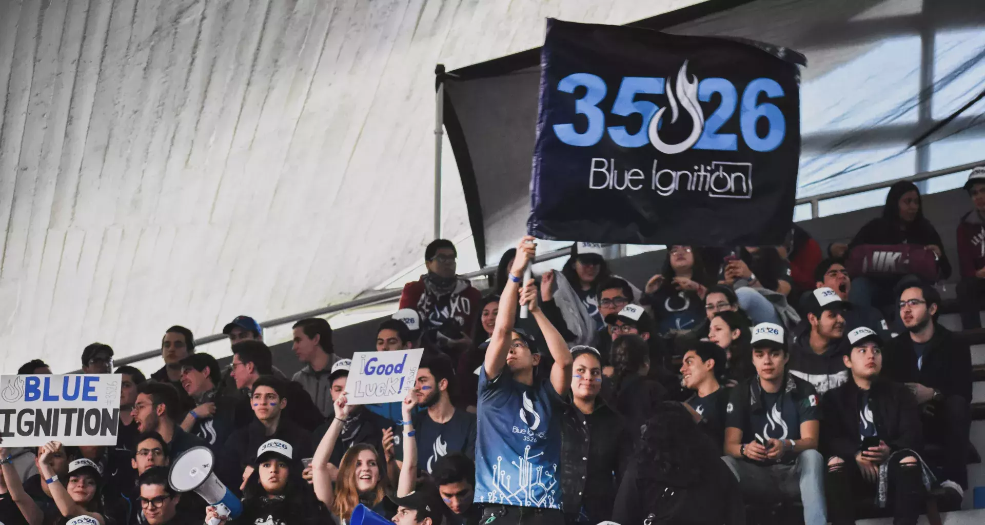
[[[786,371],[784,330],[753,328],[756,376],[732,389],[725,408],[725,463],[747,502],[800,500],[804,523],[827,523],[824,460],[818,452],[821,409],[814,386]]]

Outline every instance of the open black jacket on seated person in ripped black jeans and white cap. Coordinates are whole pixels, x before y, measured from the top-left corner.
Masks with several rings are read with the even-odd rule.
[[[854,380],[829,390],[821,399],[821,450],[824,456],[838,456],[850,461],[862,448],[859,434],[860,389]],[[917,402],[909,389],[883,379],[873,382],[869,390],[869,408],[879,438],[893,451],[923,448],[923,426]]]

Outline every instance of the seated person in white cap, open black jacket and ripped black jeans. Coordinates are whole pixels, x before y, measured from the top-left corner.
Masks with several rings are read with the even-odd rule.
[[[883,338],[875,330],[863,326],[847,337],[851,350],[842,361],[851,378],[821,402],[831,523],[855,523],[855,500],[865,495],[891,508],[895,525],[915,525],[933,480],[919,459],[923,432],[916,400],[905,386],[880,376]]]

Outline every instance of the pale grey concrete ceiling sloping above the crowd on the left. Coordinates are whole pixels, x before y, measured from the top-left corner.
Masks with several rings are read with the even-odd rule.
[[[693,3],[0,0],[0,371],[380,284],[431,234],[434,64]]]

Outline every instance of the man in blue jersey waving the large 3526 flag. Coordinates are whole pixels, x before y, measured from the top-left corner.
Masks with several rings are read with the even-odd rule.
[[[571,383],[572,359],[558,329],[537,304],[533,280],[520,292],[523,271],[534,259],[533,241],[527,236],[517,246],[479,371],[475,501],[485,505],[480,523],[490,525],[564,523],[559,416],[561,395]],[[529,307],[544,335],[555,360],[550,378],[535,371],[541,356],[534,337],[513,327],[517,303]]]

